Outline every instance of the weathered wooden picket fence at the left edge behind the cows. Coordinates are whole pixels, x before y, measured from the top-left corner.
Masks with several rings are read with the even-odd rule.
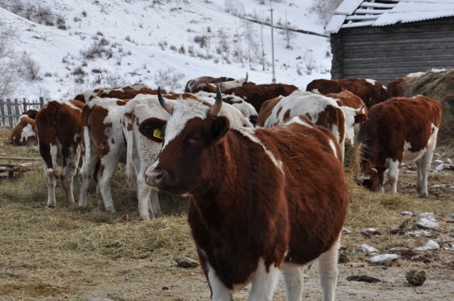
[[[26,98],[23,98],[23,101],[19,101],[17,98],[13,100],[8,98],[6,101],[0,99],[0,125],[9,125],[14,128],[23,112],[31,108],[40,110],[43,106],[43,97],[40,97],[38,101],[27,101]]]

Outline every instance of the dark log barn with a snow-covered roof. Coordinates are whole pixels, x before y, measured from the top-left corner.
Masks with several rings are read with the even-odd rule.
[[[344,0],[325,33],[333,79],[454,68],[454,0]]]

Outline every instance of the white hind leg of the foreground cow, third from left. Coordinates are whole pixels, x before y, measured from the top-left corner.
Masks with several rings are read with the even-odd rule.
[[[287,301],[301,301],[304,285],[303,267],[291,263],[282,263],[281,269]]]

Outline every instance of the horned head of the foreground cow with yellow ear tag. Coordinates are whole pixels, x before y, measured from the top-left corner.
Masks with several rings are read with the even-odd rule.
[[[181,195],[208,187],[211,171],[221,160],[215,150],[230,128],[222,107],[219,86],[213,106],[194,100],[171,105],[160,93],[162,108],[172,114],[167,120],[148,118],[140,123],[140,132],[150,140],[161,141],[162,150],[155,164],[145,172],[145,182],[160,191]]]

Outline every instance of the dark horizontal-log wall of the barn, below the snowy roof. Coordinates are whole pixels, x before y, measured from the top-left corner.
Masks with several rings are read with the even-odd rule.
[[[331,76],[387,84],[412,72],[454,68],[454,18],[343,28],[331,35]]]

